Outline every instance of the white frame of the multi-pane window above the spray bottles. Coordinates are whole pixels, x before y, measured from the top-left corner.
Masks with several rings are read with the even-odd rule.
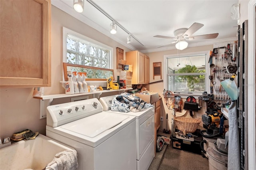
[[[114,49],[113,47],[110,47],[104,43],[101,43],[101,42],[98,42],[96,40],[93,40],[91,38],[88,38],[82,34],[79,34],[75,31],[72,31],[68,28],[65,28],[65,27],[62,27],[62,61],[63,63],[67,63],[67,35],[71,35],[71,36],[74,36],[76,38],[80,38],[86,42],[89,42],[89,43],[92,43],[94,45],[97,45],[99,47],[102,47],[102,48],[105,48],[105,49],[108,49],[109,50],[109,68],[108,69],[113,69],[114,65],[113,65],[113,59],[114,59]],[[104,68],[102,68],[104,69]],[[94,81],[101,81],[102,79],[95,79]],[[64,73],[63,73],[63,81],[64,81]],[[93,81],[93,80],[91,80]]]

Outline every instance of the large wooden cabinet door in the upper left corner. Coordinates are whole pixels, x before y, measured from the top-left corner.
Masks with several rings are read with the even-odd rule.
[[[0,11],[0,85],[50,86],[50,0],[1,0]]]

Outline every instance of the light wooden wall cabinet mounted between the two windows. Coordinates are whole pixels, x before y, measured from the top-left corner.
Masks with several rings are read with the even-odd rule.
[[[132,65],[132,84],[149,83],[149,57],[140,51],[126,52],[126,64]]]

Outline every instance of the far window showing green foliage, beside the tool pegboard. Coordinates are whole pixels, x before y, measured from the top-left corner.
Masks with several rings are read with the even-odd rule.
[[[165,89],[177,93],[200,94],[207,91],[209,51],[178,55],[165,55]]]

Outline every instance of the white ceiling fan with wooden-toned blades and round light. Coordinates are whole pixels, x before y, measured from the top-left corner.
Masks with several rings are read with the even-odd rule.
[[[200,24],[200,23],[195,22],[188,29],[187,28],[180,28],[180,29],[174,31],[174,36],[175,37],[160,36],[160,35],[156,35],[154,37],[176,40],[175,42],[172,42],[172,43],[178,42],[178,43],[176,43],[175,47],[177,49],[182,50],[182,49],[185,49],[186,47],[188,47],[188,42],[186,42],[185,40],[204,40],[204,39],[213,39],[213,38],[218,37],[219,33],[205,34],[205,35],[200,35],[200,36],[192,36],[192,34],[194,34],[197,30],[199,30],[203,26],[204,26],[204,24]],[[165,45],[160,45],[158,47],[163,47],[163,46],[166,46],[166,45],[170,45],[172,43],[168,43],[168,44],[165,44]]]

